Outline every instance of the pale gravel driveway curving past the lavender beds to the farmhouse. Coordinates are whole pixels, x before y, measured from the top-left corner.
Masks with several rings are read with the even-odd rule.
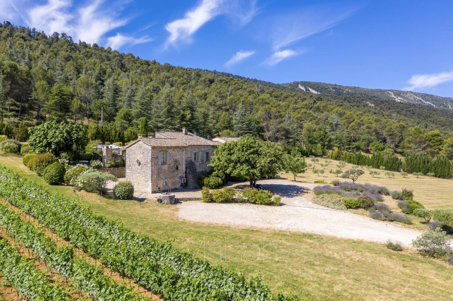
[[[313,204],[307,195],[317,184],[279,179],[260,180],[259,183],[264,189],[280,195],[284,205],[273,207],[188,201],[177,205],[178,215],[185,220],[217,225],[292,230],[380,243],[392,239],[405,246],[410,246],[412,239],[421,233],[396,223],[372,220],[348,211]],[[175,192],[176,197],[183,197],[185,193]]]

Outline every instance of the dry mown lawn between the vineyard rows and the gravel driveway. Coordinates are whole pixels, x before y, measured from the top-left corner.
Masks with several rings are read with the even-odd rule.
[[[42,177],[29,171],[21,160],[0,156],[7,167],[44,184]],[[310,171],[305,176],[298,180],[313,182],[322,178]],[[405,186],[410,187],[410,181],[407,182]],[[193,223],[178,219],[178,206],[159,205],[154,201],[116,201],[84,191],[75,192],[69,186],[48,188],[90,206],[97,213],[119,219],[130,229],[155,239],[173,241],[211,263],[236,268],[249,276],[261,275],[275,292],[294,293],[306,300],[453,298],[453,267],[424,258],[411,249],[394,252],[383,244],[352,239]],[[418,192],[415,196],[423,202]]]

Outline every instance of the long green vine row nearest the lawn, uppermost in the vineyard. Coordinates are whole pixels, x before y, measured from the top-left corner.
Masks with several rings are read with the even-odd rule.
[[[126,229],[120,222],[94,214],[64,196],[0,165],[0,196],[39,220],[62,238],[167,300],[295,301],[273,295],[260,278],[246,278],[211,266],[169,243]]]

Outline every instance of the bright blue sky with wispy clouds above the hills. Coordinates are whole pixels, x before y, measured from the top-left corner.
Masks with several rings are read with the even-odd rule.
[[[0,20],[275,83],[453,97],[453,1],[0,0]]]

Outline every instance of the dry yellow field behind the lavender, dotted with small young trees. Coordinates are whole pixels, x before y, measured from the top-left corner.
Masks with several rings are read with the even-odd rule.
[[[326,159],[318,158],[319,162],[311,162],[310,158],[305,158],[307,163],[313,164],[317,169],[323,169],[320,163],[324,163]],[[331,182],[332,180],[349,181],[348,179],[342,179],[329,173],[330,169],[337,169],[336,166],[338,161],[332,160],[332,163],[328,167],[325,167],[324,174],[316,175],[312,172],[311,168],[296,177],[297,181],[313,183],[316,180],[324,180]],[[353,164],[346,163],[346,167],[342,170],[345,171],[351,168]],[[390,191],[399,190],[402,188],[408,188],[414,190],[414,199],[421,202],[428,209],[447,209],[453,208],[453,180],[450,179],[439,179],[435,177],[421,176],[419,178],[409,174],[406,177],[401,176],[399,172],[394,172],[395,177],[386,177],[385,170],[379,170],[372,168],[371,170],[381,172],[380,175],[371,177],[369,171],[364,167],[362,168],[365,174],[358,178],[357,183],[371,183],[380,186],[386,186]],[[292,174],[282,174],[281,177],[294,180]]]

